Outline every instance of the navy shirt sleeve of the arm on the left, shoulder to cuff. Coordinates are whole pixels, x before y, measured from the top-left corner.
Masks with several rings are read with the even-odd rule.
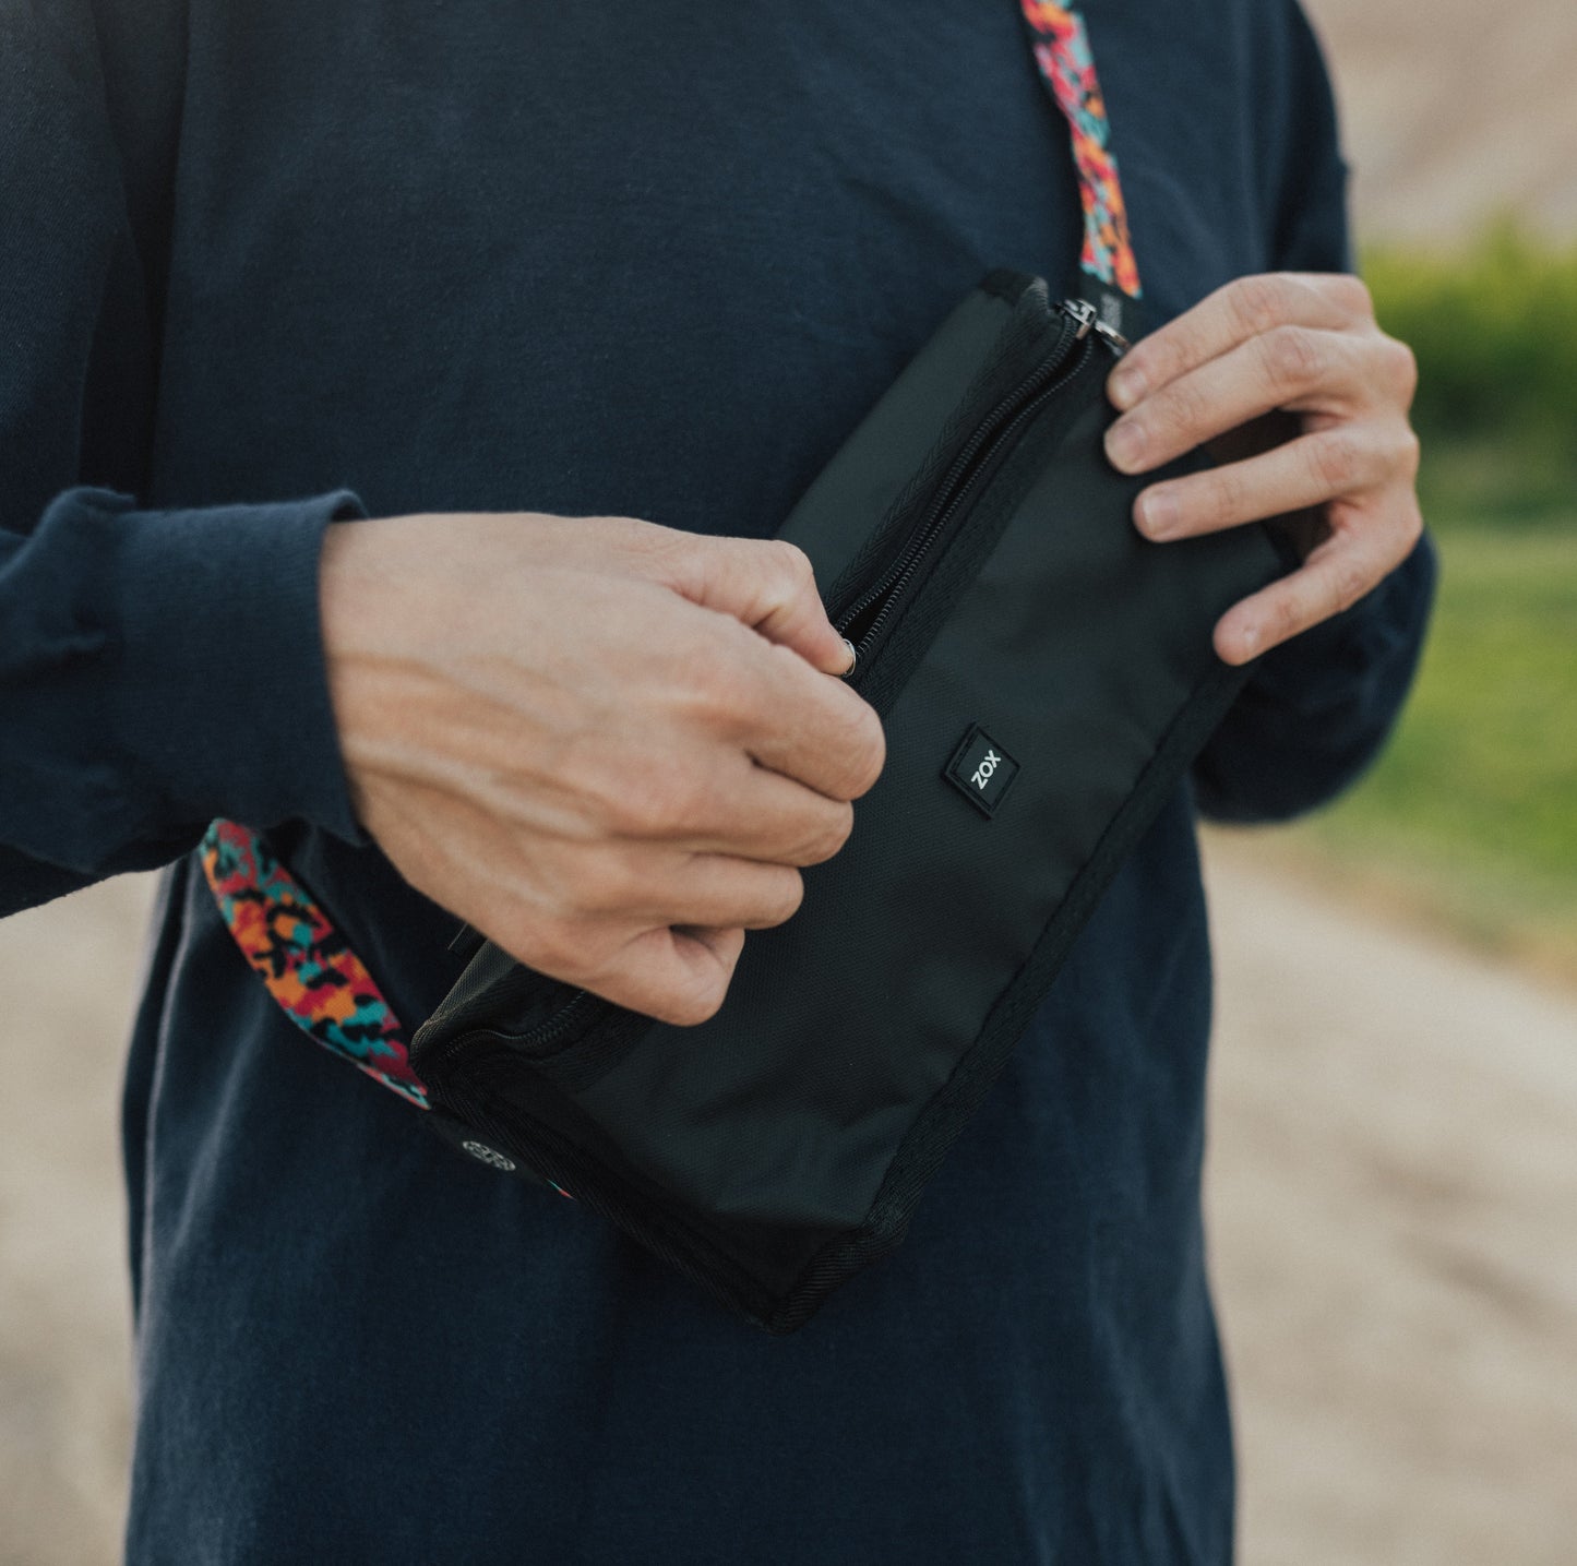
[[[214,815],[366,841],[317,598],[323,528],[364,511],[139,505],[158,128],[128,145],[112,103],[90,0],[0,0],[0,915],[166,863]]]

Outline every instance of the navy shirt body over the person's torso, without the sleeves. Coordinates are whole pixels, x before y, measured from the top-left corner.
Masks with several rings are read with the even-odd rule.
[[[1091,16],[1158,319],[1266,254],[1243,9]],[[177,96],[153,505],[770,533],[964,292],[1080,237],[1012,0],[192,0]],[[418,1022],[456,921],[375,848],[276,845]],[[426,1137],[169,891],[134,1560],[1225,1557],[1181,792],[905,1247],[788,1342]]]

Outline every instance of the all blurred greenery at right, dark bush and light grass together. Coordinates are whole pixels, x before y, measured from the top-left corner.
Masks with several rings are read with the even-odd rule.
[[[1577,246],[1501,224],[1364,274],[1418,355],[1440,591],[1391,746],[1287,847],[1577,981]]]

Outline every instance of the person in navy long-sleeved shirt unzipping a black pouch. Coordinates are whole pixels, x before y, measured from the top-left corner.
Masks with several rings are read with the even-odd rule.
[[[992,267],[1058,276],[1008,3],[0,0],[0,912],[167,866],[125,1082],[131,1561],[1224,1561],[1197,815],[1375,755],[1413,366],[1293,0],[1096,0],[1146,304],[1109,449],[1299,513],[1263,654],[905,1246],[770,1339],[312,1049],[192,845],[265,830],[401,1017],[457,919],[670,1020],[882,733],[773,528]]]

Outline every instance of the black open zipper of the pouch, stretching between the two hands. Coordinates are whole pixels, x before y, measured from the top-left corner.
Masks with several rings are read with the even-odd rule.
[[[1035,366],[1017,386],[1012,388],[987,415],[981,419],[975,434],[970,435],[964,448],[953,459],[946,476],[941,481],[937,497],[929,511],[921,517],[918,527],[910,533],[897,560],[883,572],[877,584],[867,588],[847,609],[837,621],[837,634],[853,648],[855,661],[844,675],[847,680],[859,669],[863,661],[869,661],[883,628],[893,617],[904,590],[919,569],[926,555],[943,536],[948,524],[964,508],[970,498],[975,479],[987,467],[990,459],[1014,438],[1019,429],[1028,423],[1047,397],[1058,393],[1083,367],[1093,350],[1091,333],[1104,342],[1113,355],[1121,355],[1128,347],[1126,341],[1105,322],[1099,320],[1096,309],[1085,300],[1063,300],[1058,306],[1072,326],[1069,336],[1064,326],[1057,339],[1057,347],[1050,355]],[[1083,349],[1072,363],[1068,361],[1068,349],[1083,342]],[[850,636],[856,631],[858,636]]]

